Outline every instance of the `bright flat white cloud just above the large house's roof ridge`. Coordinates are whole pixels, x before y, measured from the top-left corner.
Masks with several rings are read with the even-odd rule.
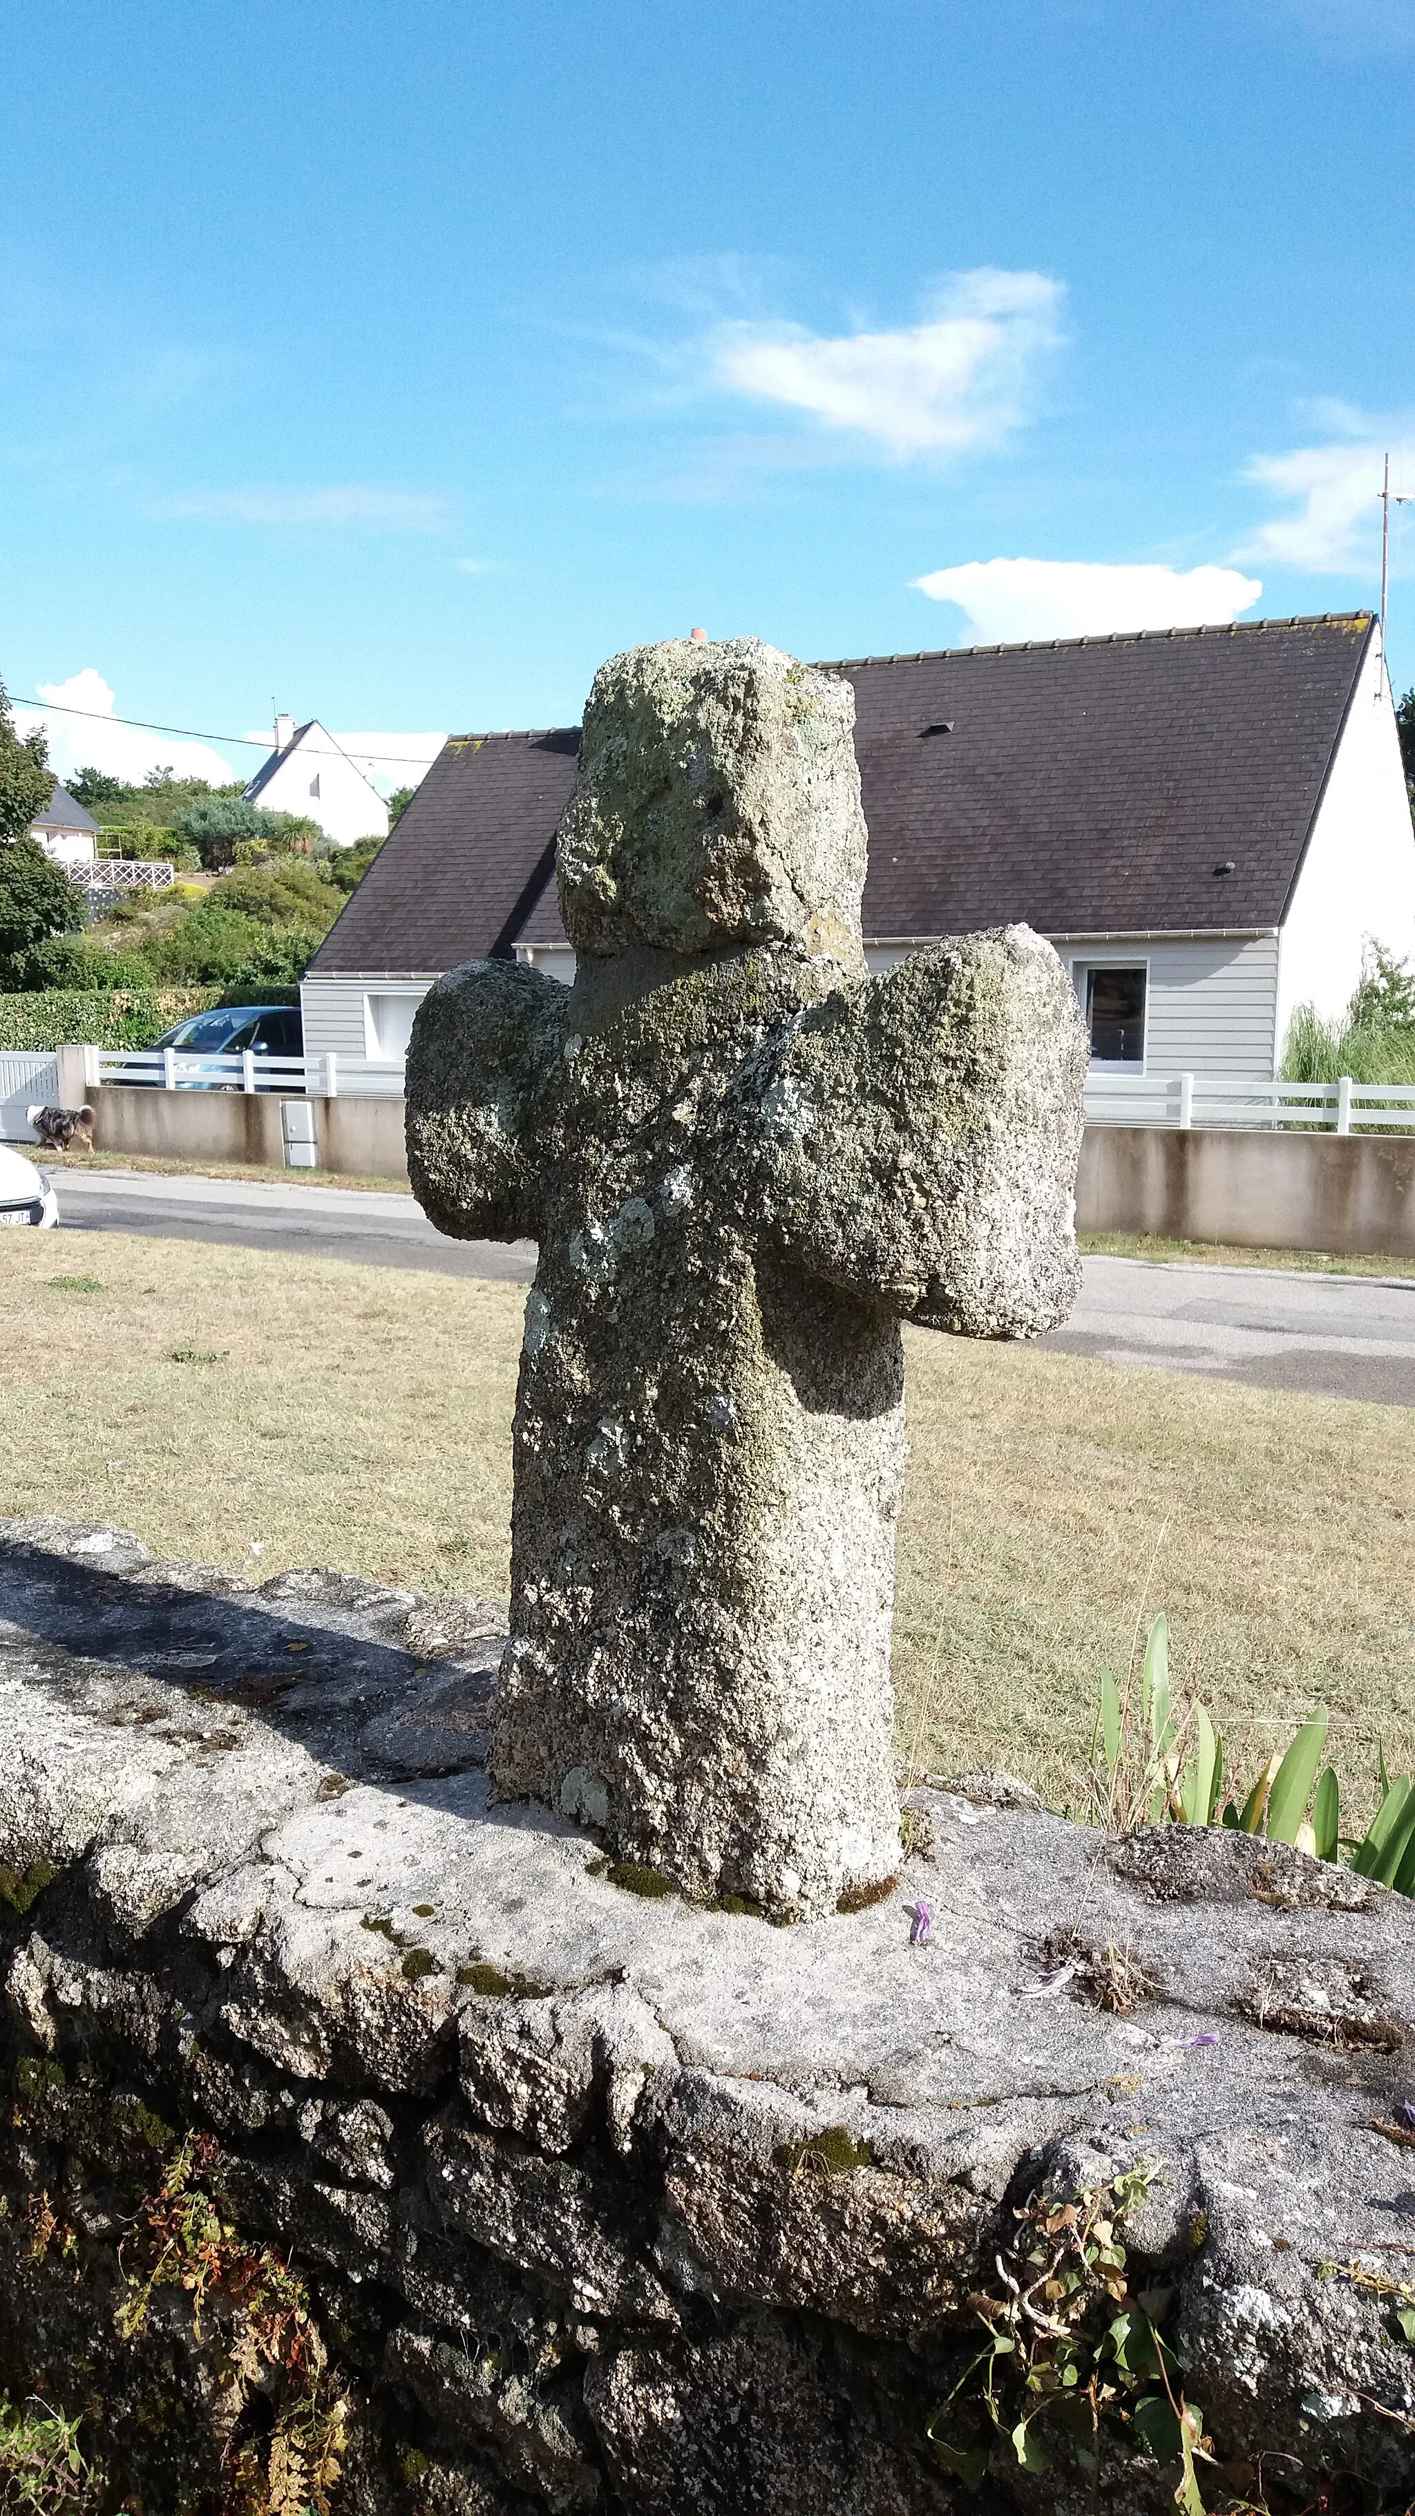
[[[919,594],[967,611],[979,647],[1105,637],[1113,629],[1198,629],[1256,604],[1261,581],[1236,569],[1108,566],[1095,559],[969,559],[914,579]]]

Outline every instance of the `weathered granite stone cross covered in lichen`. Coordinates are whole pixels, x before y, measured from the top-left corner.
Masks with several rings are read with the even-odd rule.
[[[1027,926],[866,974],[851,727],[758,639],[614,657],[574,986],[466,961],[408,1054],[426,1213],[539,1243],[496,1791],[778,1917],[899,1869],[899,1321],[1035,1336],[1078,1286],[1075,994]]]

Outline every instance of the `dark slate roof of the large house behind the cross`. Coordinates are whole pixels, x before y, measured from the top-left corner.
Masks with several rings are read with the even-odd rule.
[[[1350,611],[826,664],[856,692],[866,938],[1282,926],[1372,637]],[[577,740],[448,742],[312,971],[564,944]]]

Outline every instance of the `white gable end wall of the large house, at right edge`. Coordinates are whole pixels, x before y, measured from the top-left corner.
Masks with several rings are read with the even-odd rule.
[[[1279,1049],[1294,1006],[1332,1019],[1362,974],[1375,936],[1400,961],[1415,954],[1415,833],[1400,767],[1390,682],[1367,657],[1317,828],[1282,928]]]

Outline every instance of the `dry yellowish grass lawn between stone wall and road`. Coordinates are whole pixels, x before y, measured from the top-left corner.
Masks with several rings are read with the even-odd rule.
[[[506,1590],[516,1286],[128,1233],[3,1258],[0,1510],[259,1575]],[[1244,1761],[1317,1701],[1355,1791],[1380,1736],[1415,1761],[1415,1414],[909,1331],[909,1419],[919,1761],[1075,1801],[1141,1603]]]

